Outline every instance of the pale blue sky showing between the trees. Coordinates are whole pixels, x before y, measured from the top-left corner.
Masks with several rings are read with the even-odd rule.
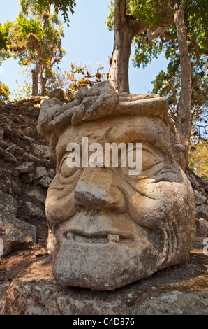
[[[70,26],[64,25],[65,38],[62,41],[67,54],[59,65],[60,69],[69,69],[71,62],[87,64],[91,73],[102,63],[103,71],[110,69],[109,57],[112,56],[114,32],[106,28],[106,18],[110,0],[77,0],[75,13],[70,15]],[[14,21],[20,10],[19,0],[1,0],[0,22]],[[131,58],[133,57],[133,50]],[[152,91],[151,81],[156,74],[167,68],[167,60],[163,55],[155,59],[145,69],[133,67],[129,62],[129,84],[132,94],[147,94]],[[23,85],[25,77],[21,73],[18,61],[6,59],[3,68],[0,67],[0,80],[8,85],[10,92],[17,90],[17,85]],[[10,97],[13,99],[13,97]]]

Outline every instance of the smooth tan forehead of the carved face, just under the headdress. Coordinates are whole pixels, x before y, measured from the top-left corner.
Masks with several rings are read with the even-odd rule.
[[[88,137],[90,144],[149,142],[164,153],[172,153],[170,129],[158,118],[118,116],[84,122],[77,126],[69,125],[59,135],[57,156],[66,152],[69,143],[82,146],[82,137]]]

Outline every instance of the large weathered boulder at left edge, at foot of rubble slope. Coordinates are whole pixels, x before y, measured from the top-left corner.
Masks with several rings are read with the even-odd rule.
[[[0,191],[0,238],[3,255],[36,242],[36,227],[16,218],[17,202]]]

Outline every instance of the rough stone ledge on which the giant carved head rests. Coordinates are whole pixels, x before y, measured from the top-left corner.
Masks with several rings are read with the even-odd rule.
[[[113,291],[64,288],[52,276],[50,258],[40,260],[12,283],[3,300],[6,315],[207,315],[205,255],[187,264]]]

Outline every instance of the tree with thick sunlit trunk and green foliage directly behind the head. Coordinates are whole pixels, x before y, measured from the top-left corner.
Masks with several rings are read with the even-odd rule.
[[[111,1],[107,26],[114,29],[114,48],[111,59],[109,80],[115,90],[129,92],[128,63],[133,38],[149,28],[163,28],[170,25],[172,15],[167,1]],[[168,1],[169,2],[169,1]]]

